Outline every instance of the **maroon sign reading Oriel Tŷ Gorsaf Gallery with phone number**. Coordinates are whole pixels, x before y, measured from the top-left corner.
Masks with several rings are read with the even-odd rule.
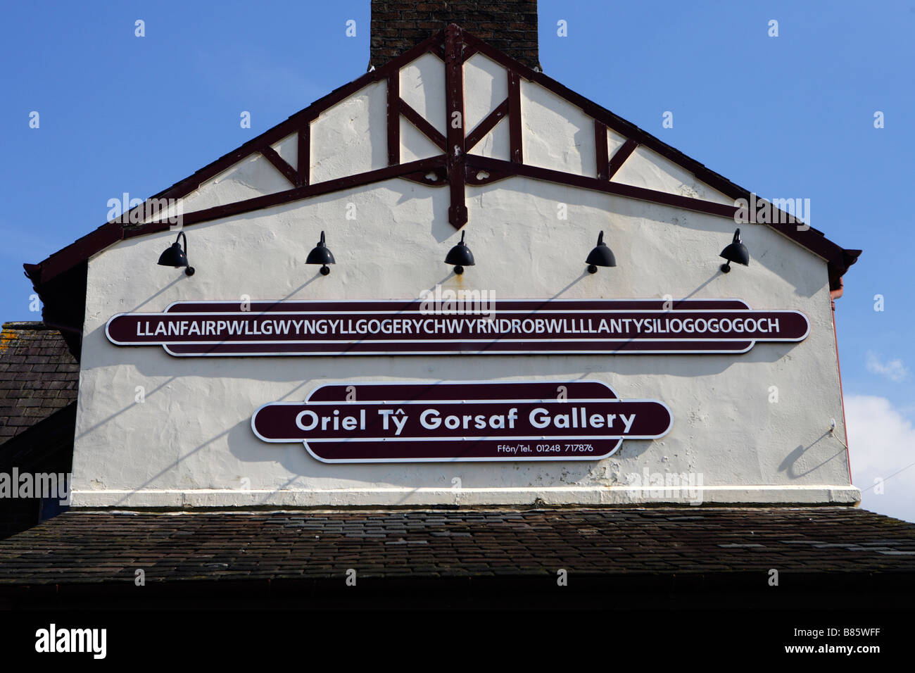
[[[662,402],[599,381],[322,385],[251,418],[261,440],[324,462],[597,461],[671,423]]]

